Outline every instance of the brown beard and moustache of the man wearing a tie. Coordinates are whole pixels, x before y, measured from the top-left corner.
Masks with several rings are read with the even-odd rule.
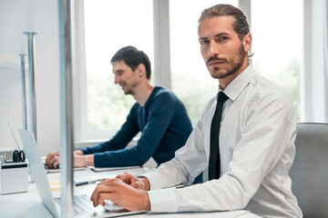
[[[208,70],[210,71],[210,75],[216,79],[223,79],[230,76],[231,74],[235,74],[241,68],[241,65],[243,64],[245,59],[245,55],[246,54],[244,51],[244,47],[241,44],[240,48],[238,49],[238,53],[234,55],[234,57],[231,58],[231,60],[228,60],[226,58],[219,58],[218,56],[211,56],[209,60],[206,62]],[[211,61],[221,61],[228,64],[228,66],[210,67],[208,64]]]

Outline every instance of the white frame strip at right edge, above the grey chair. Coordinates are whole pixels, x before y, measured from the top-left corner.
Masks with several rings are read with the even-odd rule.
[[[303,122],[328,123],[327,2],[304,0]]]

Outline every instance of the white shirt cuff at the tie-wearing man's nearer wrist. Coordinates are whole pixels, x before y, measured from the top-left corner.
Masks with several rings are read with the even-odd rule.
[[[156,213],[177,213],[176,188],[149,191],[150,211]]]

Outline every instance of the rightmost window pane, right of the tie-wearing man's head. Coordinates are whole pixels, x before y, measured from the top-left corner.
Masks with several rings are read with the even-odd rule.
[[[301,120],[302,1],[251,0],[252,64],[292,97]]]

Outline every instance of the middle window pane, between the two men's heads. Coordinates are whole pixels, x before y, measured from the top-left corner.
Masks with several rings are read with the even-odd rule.
[[[220,3],[238,5],[238,1],[169,1],[172,91],[186,105],[193,124],[219,87],[200,54],[198,20],[203,9]],[[185,7],[188,10],[181,15],[181,8]]]

